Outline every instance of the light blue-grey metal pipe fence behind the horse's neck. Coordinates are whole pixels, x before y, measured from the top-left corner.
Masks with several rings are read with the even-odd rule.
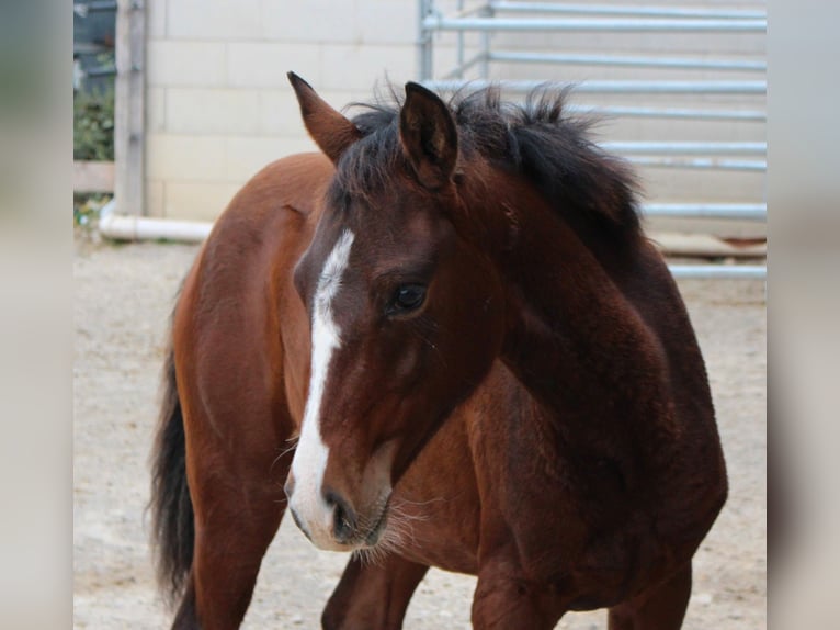
[[[730,9],[719,5],[703,8],[661,5],[569,4],[563,2],[525,2],[490,0],[467,7],[457,2],[456,13],[444,15],[434,0],[419,0],[418,75],[429,88],[456,90],[469,80],[480,87],[490,80],[492,64],[586,65],[613,68],[678,69],[748,74],[738,79],[680,80],[592,80],[576,85],[576,94],[617,95],[725,95],[756,101],[745,109],[738,106],[656,106],[637,104],[572,105],[577,112],[591,112],[613,117],[727,121],[738,125],[767,121],[763,95],[767,92],[767,63],[763,58],[707,58],[706,55],[676,56],[661,54],[591,54],[575,50],[504,50],[495,49],[493,33],[751,33],[763,35],[767,14],[763,10]],[[523,16],[524,15],[524,16]],[[455,66],[443,72],[433,68],[435,37],[455,33]],[[467,58],[465,35],[477,35],[477,48]],[[714,53],[714,50],[710,50]],[[541,80],[493,81],[503,90],[525,93],[544,83]],[[740,172],[767,171],[767,145],[757,142],[622,142],[602,143],[604,148],[624,155],[629,161],[654,168],[725,170]],[[756,203],[648,203],[642,212],[648,216],[680,218],[717,218],[734,221],[767,221],[767,204]],[[765,278],[764,265],[699,265],[672,266],[677,277],[685,278]]]

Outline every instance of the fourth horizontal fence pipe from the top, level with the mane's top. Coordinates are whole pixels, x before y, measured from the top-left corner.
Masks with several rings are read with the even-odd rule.
[[[464,86],[463,81],[423,81],[423,85],[433,90],[455,91]],[[503,90],[512,92],[530,92],[536,88],[564,83],[550,81],[470,81],[476,89],[497,85]],[[568,83],[566,83],[568,85]],[[576,93],[589,94],[764,94],[767,81],[586,81],[574,85]]]

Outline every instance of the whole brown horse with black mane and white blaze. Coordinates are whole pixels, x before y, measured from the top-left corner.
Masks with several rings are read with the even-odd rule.
[[[174,627],[238,627],[285,485],[355,552],[325,628],[400,628],[429,566],[478,576],[476,628],[679,628],[726,472],[627,167],[561,93],[408,83],[349,120],[290,79],[323,155],[246,184],[173,314],[151,506]]]

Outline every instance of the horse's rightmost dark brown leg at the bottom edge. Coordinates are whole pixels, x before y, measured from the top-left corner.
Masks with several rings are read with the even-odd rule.
[[[610,630],[678,630],[691,595],[691,562],[657,586],[610,608]]]

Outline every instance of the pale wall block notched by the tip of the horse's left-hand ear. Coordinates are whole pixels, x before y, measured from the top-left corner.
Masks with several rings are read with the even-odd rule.
[[[290,88],[286,72],[293,70],[313,85],[320,82],[320,46],[271,42],[228,44],[227,82],[236,88]]]

